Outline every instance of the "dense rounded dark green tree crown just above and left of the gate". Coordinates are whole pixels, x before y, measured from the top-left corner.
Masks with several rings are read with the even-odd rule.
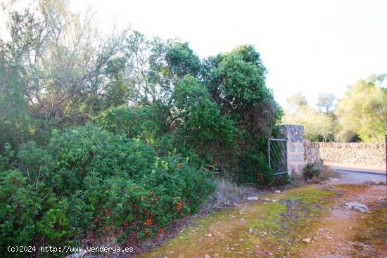
[[[253,46],[239,46],[204,61],[202,77],[222,114],[241,131],[268,135],[282,111],[265,83],[266,68]]]

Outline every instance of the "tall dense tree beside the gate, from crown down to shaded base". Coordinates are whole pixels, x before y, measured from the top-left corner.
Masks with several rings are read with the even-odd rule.
[[[265,84],[265,75],[260,54],[250,45],[207,58],[201,71],[210,99],[217,103],[220,114],[234,123],[237,131],[234,135],[238,137],[234,137],[233,148],[229,150],[233,155],[223,155],[227,157],[224,165],[230,171],[237,171],[232,176],[245,178],[242,181],[250,183],[258,183],[255,169],[260,169],[262,176],[265,174],[265,179],[258,183],[262,185],[274,179],[267,160],[257,153],[266,151],[267,137],[282,115]]]

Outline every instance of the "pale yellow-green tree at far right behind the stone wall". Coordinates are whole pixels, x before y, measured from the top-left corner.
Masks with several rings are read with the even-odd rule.
[[[383,76],[375,75],[359,80],[338,101],[336,115],[341,141],[348,141],[354,134],[366,142],[383,141],[387,129],[387,89],[381,87],[381,82]]]

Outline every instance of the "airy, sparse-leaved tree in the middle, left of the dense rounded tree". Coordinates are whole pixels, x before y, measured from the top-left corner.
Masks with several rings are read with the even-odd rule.
[[[188,43],[146,39],[134,31],[125,39],[125,75],[132,89],[130,101],[171,105],[174,85],[185,75],[198,77],[201,60]]]

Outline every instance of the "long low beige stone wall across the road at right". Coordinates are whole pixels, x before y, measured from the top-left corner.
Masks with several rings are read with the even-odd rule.
[[[386,165],[384,143],[317,143],[321,158],[326,162],[362,165]]]

